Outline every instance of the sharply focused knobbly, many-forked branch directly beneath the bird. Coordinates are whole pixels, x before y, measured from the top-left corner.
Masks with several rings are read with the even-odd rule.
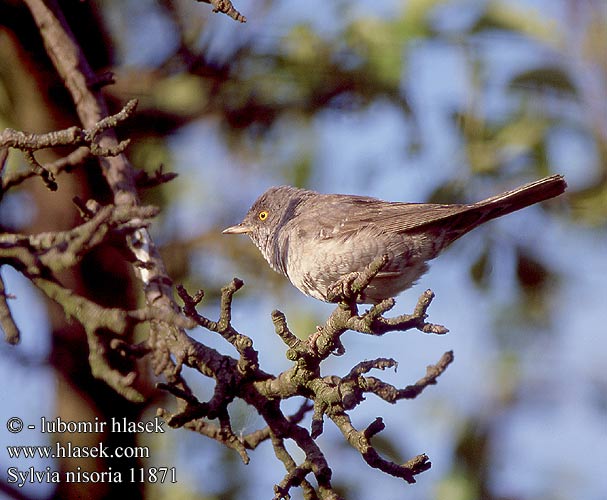
[[[356,277],[353,278],[355,279]],[[235,331],[230,324],[233,293],[241,286],[242,283],[235,280],[223,289],[220,320],[217,322],[204,318],[196,312],[196,305],[200,303],[204,296],[202,292],[198,292],[192,297],[183,288],[180,288],[179,294],[185,304],[183,312],[204,328],[211,331],[223,332],[224,338],[231,343],[234,343],[234,339],[236,338],[248,338]],[[399,330],[419,327],[425,320],[426,310],[430,304],[431,297],[431,293],[424,293],[420,297],[416,311],[410,316],[410,320],[407,322],[395,321],[393,324],[390,324],[390,329]],[[218,380],[218,387],[222,387],[224,394],[228,392],[233,394],[232,391],[236,391],[237,397],[241,397],[255,407],[268,423],[266,431],[262,434],[260,434],[261,431],[258,431],[257,434],[249,436],[249,441],[243,440],[243,443],[245,447],[247,443],[250,446],[250,439],[253,436],[256,436],[256,439],[259,439],[260,436],[263,436],[264,439],[266,436],[270,436],[272,439],[275,454],[287,469],[286,476],[275,488],[277,495],[275,498],[288,498],[290,489],[295,486],[302,486],[305,489],[306,486],[304,485],[309,484],[305,482],[307,481],[306,476],[308,474],[313,474],[317,481],[319,477],[322,478],[323,484],[326,486],[325,493],[321,493],[321,488],[319,488],[314,493],[315,495],[318,494],[319,498],[334,498],[331,495],[335,493],[329,486],[330,475],[327,475],[330,469],[325,468],[326,459],[315,444],[315,439],[322,433],[324,415],[327,415],[340,428],[348,442],[370,466],[400,477],[407,482],[415,482],[415,475],[430,467],[428,458],[421,454],[405,464],[395,464],[381,458],[379,453],[373,448],[370,440],[373,435],[383,430],[383,423],[376,421],[369,428],[359,431],[352,425],[347,412],[362,403],[364,394],[369,392],[377,394],[390,403],[395,403],[400,399],[416,397],[424,388],[436,383],[438,376],[453,361],[452,353],[445,353],[436,365],[428,367],[426,376],[403,389],[397,389],[376,377],[367,375],[374,369],[383,370],[395,367],[396,361],[393,359],[380,358],[358,363],[344,377],[336,375],[320,377],[318,366],[322,359],[331,354],[331,349],[325,348],[324,344],[321,344],[319,347],[319,340],[322,341],[323,335],[327,335],[325,332],[331,332],[331,335],[327,336],[327,338],[331,339],[330,342],[333,345],[336,342],[340,342],[339,335],[347,331],[349,325],[364,321],[364,319],[358,316],[356,308],[351,307],[351,304],[348,307],[345,307],[344,304],[339,304],[325,325],[317,329],[316,333],[320,332],[320,335],[317,337],[315,344],[299,341],[289,330],[282,313],[274,311],[272,319],[277,335],[289,347],[287,358],[294,362],[292,368],[276,376],[265,373],[258,368],[251,368],[248,371],[237,370],[236,366],[238,362],[236,360],[223,357],[223,355],[215,352],[213,356],[219,358],[216,366],[226,367],[227,370],[222,374],[212,369],[211,376]],[[364,333],[379,334],[380,332],[373,331],[373,326],[379,325],[378,328],[385,328],[384,325],[389,324],[389,321],[389,319],[376,314],[374,320],[366,324]],[[202,346],[199,349],[201,351],[206,350]],[[252,343],[250,349],[253,350]],[[189,363],[194,361],[194,367],[198,366],[200,368],[197,358],[184,357],[183,361],[188,366],[191,366]],[[208,368],[209,361],[205,365]],[[225,386],[226,380],[231,385],[229,391]],[[275,401],[294,396],[304,396],[312,403],[312,405],[308,406],[308,411],[309,408],[314,409],[310,431],[286,419],[277,407],[273,412],[268,412],[268,407],[272,407]],[[217,388],[215,395],[208,403],[199,404],[196,402],[192,404],[192,401],[189,401],[185,411],[178,415],[167,415],[167,418],[171,425],[184,425],[188,428],[194,428],[205,435],[209,435],[212,427],[209,427],[208,422],[205,422],[202,417],[209,418],[210,407],[214,404],[217,404]],[[218,431],[213,431],[212,434],[215,439],[220,435]],[[230,433],[224,433],[222,442],[225,441],[227,446],[235,447],[233,443],[229,444],[230,439],[226,438],[226,436],[231,438]],[[302,451],[306,453],[308,458],[304,462],[297,465],[293,458],[286,453],[283,442],[285,438],[295,440]],[[242,450],[239,453],[242,456]],[[320,460],[320,462],[317,462],[317,460]],[[318,471],[314,469],[315,464],[320,464]],[[314,496],[310,496],[309,498],[314,498]]]

